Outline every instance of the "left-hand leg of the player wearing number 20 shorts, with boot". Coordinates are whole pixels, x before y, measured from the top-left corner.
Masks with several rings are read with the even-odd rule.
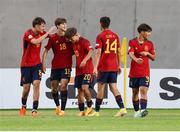
[[[85,116],[84,112],[84,90],[82,88],[78,88],[78,106],[80,113],[78,116]]]

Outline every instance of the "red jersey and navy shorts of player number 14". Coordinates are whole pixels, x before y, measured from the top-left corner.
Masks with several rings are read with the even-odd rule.
[[[96,49],[101,49],[98,65],[98,82],[116,83],[119,71],[118,48],[119,37],[111,30],[102,31],[96,38]]]

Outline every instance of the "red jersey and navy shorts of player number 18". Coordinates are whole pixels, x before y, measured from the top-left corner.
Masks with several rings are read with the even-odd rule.
[[[64,36],[57,33],[50,36],[47,50],[52,49],[54,57],[52,59],[51,80],[70,79],[72,67],[72,44]]]

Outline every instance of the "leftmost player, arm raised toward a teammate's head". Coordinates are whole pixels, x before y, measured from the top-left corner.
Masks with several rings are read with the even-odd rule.
[[[36,17],[32,22],[32,29],[29,29],[24,33],[23,56],[21,60],[21,86],[23,86],[23,91],[20,116],[26,115],[26,102],[31,83],[33,85],[32,116],[37,115],[42,75],[40,59],[41,43],[50,33],[56,30],[56,27],[51,27],[48,32],[45,32],[45,24],[46,22],[43,18]]]

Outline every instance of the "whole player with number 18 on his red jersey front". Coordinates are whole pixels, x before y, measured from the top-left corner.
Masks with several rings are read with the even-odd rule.
[[[52,59],[51,67],[51,93],[56,104],[56,114],[64,116],[64,111],[67,102],[67,85],[71,77],[72,67],[72,44],[65,38],[65,31],[67,29],[67,21],[65,18],[57,18],[55,20],[57,33],[50,36],[48,44],[45,46],[43,53],[43,72],[46,71],[45,62],[48,56],[48,51],[52,49],[54,57]],[[61,94],[61,108],[59,104],[58,88],[60,85]]]

